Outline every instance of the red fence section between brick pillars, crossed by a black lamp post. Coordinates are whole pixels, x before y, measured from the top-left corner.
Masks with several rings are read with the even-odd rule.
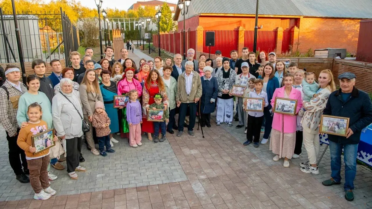
[[[274,30],[259,30],[257,32],[257,51],[272,52],[276,47],[276,36],[278,32]],[[253,50],[254,30],[244,31],[244,46],[249,51]]]

